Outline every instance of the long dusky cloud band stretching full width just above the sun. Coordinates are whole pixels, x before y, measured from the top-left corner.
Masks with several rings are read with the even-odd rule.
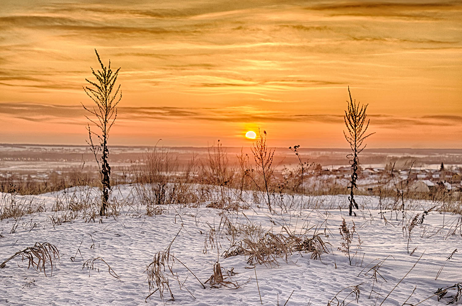
[[[88,113],[81,106],[37,104],[30,102],[0,103],[0,114],[34,122],[60,122],[81,124]],[[343,127],[343,114],[288,114],[267,111],[251,106],[228,108],[179,108],[179,107],[119,107],[118,119],[128,121],[145,120],[191,120],[212,122],[304,122],[338,124]],[[462,116],[426,115],[420,117],[398,117],[394,115],[370,114],[370,128],[402,129],[408,126],[454,126],[460,125]]]

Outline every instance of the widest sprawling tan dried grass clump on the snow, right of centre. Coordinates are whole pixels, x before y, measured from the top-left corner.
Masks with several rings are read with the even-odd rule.
[[[312,236],[294,234],[283,227],[285,234],[273,234],[267,232],[257,241],[249,238],[234,243],[222,256],[225,258],[245,255],[248,256],[248,264],[265,264],[266,266],[279,265],[278,258],[288,263],[289,257],[295,252],[311,253],[312,259],[320,259],[322,253],[328,253],[328,242],[322,240],[322,233],[314,233]]]

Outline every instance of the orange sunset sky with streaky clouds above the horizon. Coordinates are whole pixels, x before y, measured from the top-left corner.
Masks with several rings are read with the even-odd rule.
[[[462,1],[0,3],[0,143],[85,144],[82,86],[121,67],[109,145],[462,148]]]

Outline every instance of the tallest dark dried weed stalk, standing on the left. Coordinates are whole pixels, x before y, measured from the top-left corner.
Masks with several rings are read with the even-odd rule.
[[[101,179],[101,208],[99,211],[100,216],[106,215],[109,202],[109,192],[111,190],[110,175],[111,167],[109,166],[109,149],[108,149],[108,138],[109,131],[114,124],[117,117],[117,104],[122,99],[122,90],[120,90],[120,84],[117,86],[117,76],[119,74],[120,67],[113,71],[111,69],[111,62],[109,60],[109,66],[104,66],[101,61],[97,50],[95,49],[98,62],[101,65],[101,70],[93,70],[91,73],[97,79],[96,82],[92,82],[85,78],[91,87],[83,87],[87,96],[95,102],[96,107],[87,108],[85,105],[83,108],[92,114],[94,117],[91,119],[85,116],[91,123],[97,127],[98,132],[93,132],[90,129],[90,124],[87,124],[88,137],[87,144],[90,145],[90,150],[95,156],[96,162],[99,168],[99,174]],[[92,135],[96,136],[99,144],[94,144]],[[101,154],[101,157],[98,157]]]

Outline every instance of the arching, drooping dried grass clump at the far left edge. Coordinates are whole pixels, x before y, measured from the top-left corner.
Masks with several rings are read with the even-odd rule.
[[[37,272],[38,271],[42,272],[43,270],[43,274],[45,274],[45,276],[47,276],[47,273],[45,271],[45,266],[47,262],[50,265],[50,269],[51,269],[50,276],[51,276],[53,275],[54,263],[56,260],[59,261],[59,258],[60,258],[59,251],[56,248],[56,246],[48,242],[45,242],[43,244],[36,242],[34,246],[26,247],[24,250],[14,253],[12,257],[6,259],[2,264],[0,264],[0,269],[5,268],[6,263],[8,261],[18,256],[21,256],[21,262],[23,262],[24,259],[27,258],[28,264],[29,264],[27,266],[27,269],[29,269],[30,266],[32,266],[32,268],[34,268]]]

